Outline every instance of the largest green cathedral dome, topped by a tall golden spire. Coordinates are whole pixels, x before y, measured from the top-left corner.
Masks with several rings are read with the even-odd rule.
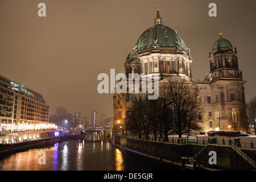
[[[148,28],[139,37],[135,49],[142,51],[153,47],[180,47],[188,53],[184,41],[180,38],[176,31],[167,26],[163,26],[163,20],[159,15],[159,9],[155,18],[155,26]]]

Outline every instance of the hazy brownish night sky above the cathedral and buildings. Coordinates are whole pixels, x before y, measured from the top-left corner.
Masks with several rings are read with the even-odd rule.
[[[47,16],[38,16],[38,3]],[[217,17],[208,5],[217,4]],[[35,90],[49,104],[90,119],[113,116],[112,94],[98,94],[99,73],[123,72],[132,46],[154,26],[156,3],[163,24],[191,48],[194,80],[209,73],[209,51],[222,37],[237,47],[246,101],[255,96],[256,1],[0,0],[0,75]]]

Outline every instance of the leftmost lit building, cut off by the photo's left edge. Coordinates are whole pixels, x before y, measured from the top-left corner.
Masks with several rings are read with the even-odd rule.
[[[0,75],[0,132],[10,130],[13,124],[15,92],[10,80]]]

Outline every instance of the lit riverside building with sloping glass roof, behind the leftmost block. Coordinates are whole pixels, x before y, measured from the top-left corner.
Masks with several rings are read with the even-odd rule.
[[[49,105],[41,94],[11,81],[15,93],[14,123],[48,123]]]

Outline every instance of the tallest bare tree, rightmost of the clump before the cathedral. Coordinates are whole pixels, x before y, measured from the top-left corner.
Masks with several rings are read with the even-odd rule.
[[[197,103],[196,85],[179,77],[171,77],[167,83],[167,100],[172,110],[171,130],[181,135],[191,130],[200,131],[201,109]]]

